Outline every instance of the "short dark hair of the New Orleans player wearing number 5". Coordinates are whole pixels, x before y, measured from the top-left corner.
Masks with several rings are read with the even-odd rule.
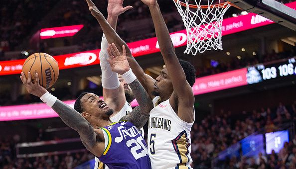
[[[195,83],[195,68],[191,63],[184,61],[182,59],[179,59],[180,65],[184,70],[186,80],[192,87],[193,84]]]

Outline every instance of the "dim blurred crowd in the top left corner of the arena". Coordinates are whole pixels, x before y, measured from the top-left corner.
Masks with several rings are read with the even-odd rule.
[[[58,0],[0,0],[0,59],[28,40],[36,26]]]

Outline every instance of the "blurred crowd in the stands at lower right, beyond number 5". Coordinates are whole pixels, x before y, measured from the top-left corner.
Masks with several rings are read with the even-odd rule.
[[[274,132],[280,126],[296,120],[296,100],[287,107],[261,108],[233,116],[221,110],[220,115],[209,115],[193,125],[191,146],[194,169],[209,169],[212,160],[229,146],[255,132]],[[246,158],[232,157],[219,164],[224,169],[296,169],[296,137],[287,143],[279,154],[258,155],[247,162]],[[261,160],[263,159],[263,160]]]

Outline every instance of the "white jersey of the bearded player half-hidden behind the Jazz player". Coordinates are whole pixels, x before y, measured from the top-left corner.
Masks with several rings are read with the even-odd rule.
[[[126,101],[125,105],[122,109],[114,116],[110,117],[112,122],[118,122],[123,116],[130,114],[133,111],[132,106]],[[144,129],[139,129],[142,136],[144,137]],[[109,169],[107,165],[103,164],[99,161],[97,157],[95,157],[95,168],[94,169]]]

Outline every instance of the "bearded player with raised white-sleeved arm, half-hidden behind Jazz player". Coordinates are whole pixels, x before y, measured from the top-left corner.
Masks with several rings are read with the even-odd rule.
[[[109,0],[108,1],[108,23],[116,30],[116,23],[118,16],[124,13],[132,6],[123,7],[123,0]],[[118,122],[123,116],[128,115],[132,112],[130,103],[135,99],[133,91],[129,84],[115,72],[112,72],[108,62],[108,41],[103,35],[101,42],[101,51],[99,54],[100,65],[102,70],[102,86],[103,86],[103,97],[105,102],[110,108],[114,110],[114,113],[110,116],[112,122]],[[144,137],[143,128],[140,129],[142,136]],[[109,169],[107,165],[99,161],[95,157],[95,168],[94,169]]]

